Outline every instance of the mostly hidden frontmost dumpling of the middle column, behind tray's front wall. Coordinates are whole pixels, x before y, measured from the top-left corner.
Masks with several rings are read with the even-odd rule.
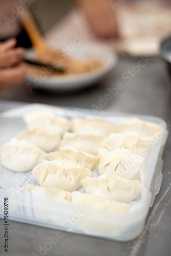
[[[56,197],[59,197],[61,199],[65,199],[65,200],[70,200],[71,198],[71,193],[59,188],[54,188],[54,187],[40,187],[40,186],[35,186],[32,184],[28,184],[27,186],[23,187],[23,189],[25,190],[35,190],[35,191],[47,191],[53,195],[55,195]]]

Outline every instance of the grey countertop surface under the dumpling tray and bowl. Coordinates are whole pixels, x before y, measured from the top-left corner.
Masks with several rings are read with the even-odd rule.
[[[29,92],[26,84],[0,92],[0,112],[15,108],[26,102],[46,103],[57,106],[92,109],[92,104],[99,105],[101,98],[106,98],[109,88],[116,88],[117,82],[123,84],[117,95],[110,97],[104,103],[102,110],[112,113],[132,113],[155,115],[163,118],[168,129],[171,129],[171,84],[168,84],[163,63],[160,58],[146,59],[146,65],[137,72],[135,66],[140,58],[120,57],[117,68],[100,84],[72,93],[50,93],[33,89]],[[130,78],[125,78],[125,72],[130,72]],[[135,72],[136,74],[135,74]],[[130,81],[129,81],[130,80]],[[99,98],[100,97],[100,98]],[[101,102],[100,102],[101,103]],[[0,220],[0,255],[60,255],[60,256],[156,256],[171,255],[171,136],[169,135],[163,166],[163,181],[154,205],[149,209],[146,228],[150,230],[147,236],[143,233],[129,242],[115,242],[80,234],[63,232],[64,237],[58,240],[50,250],[39,252],[40,246],[48,241],[48,236],[55,235],[56,230],[9,221],[9,251],[3,251],[3,220]],[[153,227],[153,228],[151,228]]]

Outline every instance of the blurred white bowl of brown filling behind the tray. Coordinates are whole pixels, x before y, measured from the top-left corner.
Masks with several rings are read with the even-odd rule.
[[[28,86],[53,91],[72,91],[100,82],[117,65],[118,56],[110,48],[97,44],[83,44],[73,52],[63,50],[26,53],[29,60],[45,63],[45,66],[28,65]],[[49,66],[48,66],[49,65]],[[52,67],[62,68],[58,72]]]

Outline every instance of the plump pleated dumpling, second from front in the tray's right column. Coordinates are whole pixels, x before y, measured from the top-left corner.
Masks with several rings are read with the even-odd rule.
[[[138,180],[127,180],[110,174],[103,174],[98,178],[87,177],[81,180],[81,183],[88,194],[105,196],[125,203],[134,200],[142,189]]]

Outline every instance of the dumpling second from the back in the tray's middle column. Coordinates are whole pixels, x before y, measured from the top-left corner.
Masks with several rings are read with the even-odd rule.
[[[77,150],[97,156],[98,148],[102,147],[104,139],[103,135],[67,132],[63,135],[61,146],[75,147]]]

